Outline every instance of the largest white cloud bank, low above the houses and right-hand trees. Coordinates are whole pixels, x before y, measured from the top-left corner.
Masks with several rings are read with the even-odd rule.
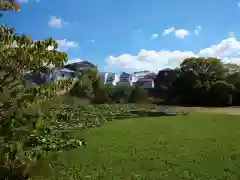
[[[219,57],[225,62],[240,64],[240,41],[237,41],[236,38],[228,38],[199,52],[142,49],[137,55],[109,56],[106,58],[106,63],[107,69],[117,67],[128,72],[136,70],[158,71],[167,67],[177,67],[187,57],[199,56]]]

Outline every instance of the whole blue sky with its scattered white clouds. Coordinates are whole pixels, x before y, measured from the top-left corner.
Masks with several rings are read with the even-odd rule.
[[[185,57],[240,63],[235,0],[18,0],[1,23],[34,39],[53,37],[69,60],[100,71],[157,70]],[[71,2],[71,3],[70,3]]]

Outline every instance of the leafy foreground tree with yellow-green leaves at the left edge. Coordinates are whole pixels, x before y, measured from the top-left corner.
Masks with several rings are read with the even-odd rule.
[[[49,151],[80,145],[79,140],[70,141],[66,134],[72,127],[71,119],[66,121],[66,116],[59,115],[71,112],[55,109],[43,112],[38,107],[72,81],[26,85],[27,73],[44,72],[49,65],[61,67],[67,61],[67,54],[59,52],[57,42],[51,38],[33,41],[3,25],[0,40],[0,139],[4,140],[0,144],[0,166],[11,175],[22,168],[21,175],[26,176],[31,164]],[[0,171],[2,175],[4,171]]]

